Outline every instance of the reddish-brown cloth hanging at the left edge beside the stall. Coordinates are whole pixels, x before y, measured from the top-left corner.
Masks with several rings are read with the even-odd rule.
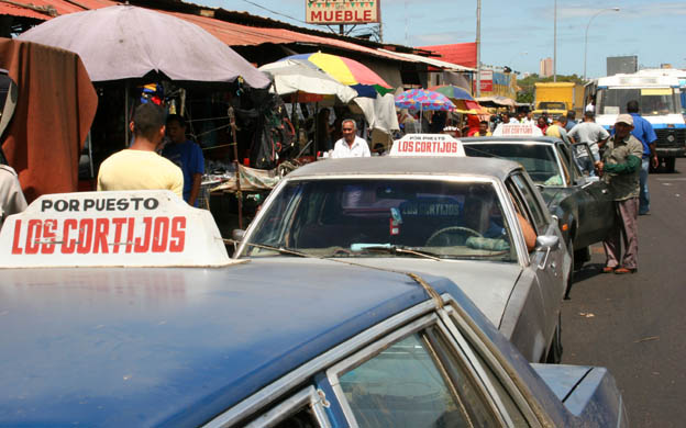
[[[78,55],[0,38],[0,68],[16,83],[16,105],[1,140],[26,196],[75,192],[78,159],[98,95]]]

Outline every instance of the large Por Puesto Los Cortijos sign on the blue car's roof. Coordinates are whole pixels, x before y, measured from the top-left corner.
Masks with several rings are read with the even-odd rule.
[[[0,230],[0,268],[229,263],[210,212],[166,190],[47,194]]]

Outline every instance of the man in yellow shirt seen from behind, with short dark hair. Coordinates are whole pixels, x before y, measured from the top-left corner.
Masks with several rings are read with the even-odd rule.
[[[170,190],[184,192],[184,172],[155,149],[165,135],[165,112],[151,102],[141,104],[130,125],[133,144],[104,159],[98,172],[98,190]]]

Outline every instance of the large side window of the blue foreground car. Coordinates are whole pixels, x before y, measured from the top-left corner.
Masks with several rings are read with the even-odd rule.
[[[361,427],[499,426],[482,390],[457,364],[445,364],[431,341],[435,329],[412,334],[340,375]]]

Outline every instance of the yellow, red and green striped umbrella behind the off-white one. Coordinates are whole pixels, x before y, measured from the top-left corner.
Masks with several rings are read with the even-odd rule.
[[[291,55],[280,60],[296,60],[309,67],[319,68],[341,83],[355,89],[359,97],[375,98],[377,92],[384,94],[389,92],[391,88],[369,67],[343,56],[317,52],[313,54]]]

